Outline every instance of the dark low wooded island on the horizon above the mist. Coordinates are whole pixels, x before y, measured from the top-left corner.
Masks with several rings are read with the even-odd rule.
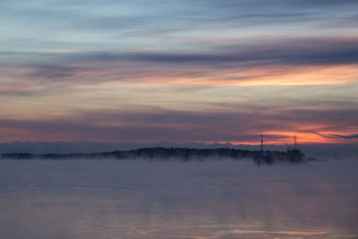
[[[1,159],[182,159],[204,160],[206,158],[250,158],[260,162],[271,164],[275,162],[303,163],[314,158],[306,158],[304,154],[291,155],[288,151],[252,151],[243,149],[188,149],[188,148],[145,148],[132,150],[116,150],[100,153],[71,153],[71,154],[30,154],[30,153],[7,153],[0,156]]]

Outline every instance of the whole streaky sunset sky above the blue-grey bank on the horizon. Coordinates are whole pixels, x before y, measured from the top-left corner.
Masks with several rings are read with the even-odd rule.
[[[2,0],[0,142],[358,142],[358,1]]]

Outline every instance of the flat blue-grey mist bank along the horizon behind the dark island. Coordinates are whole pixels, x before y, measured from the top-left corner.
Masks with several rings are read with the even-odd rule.
[[[154,143],[108,143],[93,141],[36,141],[36,142],[4,142],[0,143],[0,154],[29,153],[29,154],[88,154],[109,152],[115,150],[133,150],[144,148],[186,148],[186,149],[243,149],[260,150],[258,145],[231,144],[231,143],[178,143],[161,141]],[[358,158],[358,145],[356,144],[310,144],[300,145],[307,156],[313,158]],[[265,145],[265,150],[285,151],[286,145]]]

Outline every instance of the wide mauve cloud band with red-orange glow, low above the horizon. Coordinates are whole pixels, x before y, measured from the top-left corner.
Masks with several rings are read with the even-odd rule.
[[[256,141],[258,132],[296,132],[304,129],[305,125],[319,124],[321,126],[312,132],[319,134],[317,132],[321,130],[339,130],[342,125],[354,125],[354,120],[345,115],[357,118],[358,111],[252,110],[251,113],[200,113],[152,110],[115,113],[98,110],[53,120],[0,119],[0,125],[7,130],[12,129],[17,135],[33,134],[37,139],[45,141]],[[357,138],[355,134],[328,136],[346,140]],[[268,135],[268,140],[277,139],[286,139],[286,136]]]

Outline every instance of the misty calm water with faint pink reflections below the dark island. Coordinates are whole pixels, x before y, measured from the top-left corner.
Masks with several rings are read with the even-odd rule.
[[[357,238],[358,160],[0,160],[4,238]]]

